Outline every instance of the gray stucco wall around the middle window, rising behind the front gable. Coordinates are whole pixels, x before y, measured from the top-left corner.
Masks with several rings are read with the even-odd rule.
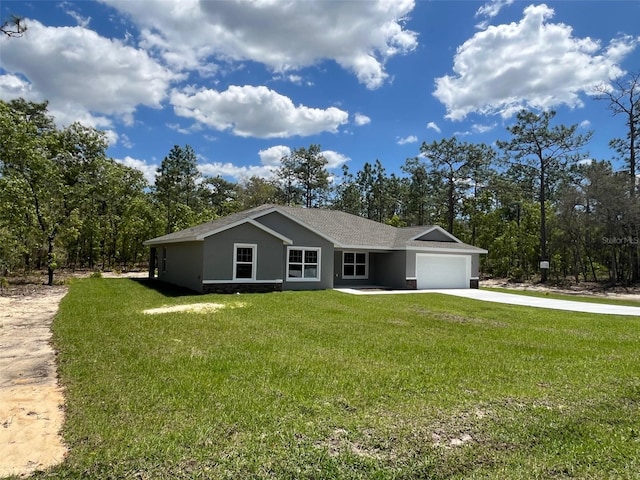
[[[320,281],[287,281],[287,246],[281,243],[280,262],[283,275],[283,290],[324,290],[333,288],[334,282],[334,249],[333,243],[325,240],[318,234],[308,230],[289,218],[277,212],[270,213],[263,217],[256,218],[255,221],[269,227],[272,230],[291,239],[293,244],[291,247],[320,247]],[[275,255],[274,255],[275,256]]]

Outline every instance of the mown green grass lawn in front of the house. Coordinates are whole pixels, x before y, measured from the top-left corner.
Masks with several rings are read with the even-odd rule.
[[[213,313],[144,315],[218,302]],[[71,284],[36,478],[640,478],[640,318],[445,295]]]

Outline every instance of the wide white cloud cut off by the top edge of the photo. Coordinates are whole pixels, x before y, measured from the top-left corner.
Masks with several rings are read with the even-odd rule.
[[[404,28],[414,0],[102,1],[128,13],[142,45],[180,69],[252,60],[287,72],[329,59],[375,89],[388,77],[386,61],[417,46],[417,34]]]

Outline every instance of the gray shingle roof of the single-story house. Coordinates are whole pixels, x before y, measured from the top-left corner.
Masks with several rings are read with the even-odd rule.
[[[259,222],[261,216],[273,211],[288,216],[297,223],[315,231],[342,248],[391,250],[406,247],[428,247],[438,250],[455,249],[478,253],[485,252],[485,250],[481,248],[473,247],[459,241],[427,242],[412,240],[430,229],[437,228],[433,226],[397,228],[338,210],[284,207],[281,205],[262,205],[250,210],[234,213],[196,227],[148,240],[145,244],[160,245],[163,243],[202,240],[203,237],[215,234],[217,231],[236,223],[241,223],[249,219],[256,219]]]

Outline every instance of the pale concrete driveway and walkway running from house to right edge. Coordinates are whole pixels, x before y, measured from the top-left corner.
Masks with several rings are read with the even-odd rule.
[[[517,293],[492,292],[490,290],[443,289],[443,290],[358,290],[353,288],[339,288],[338,291],[354,295],[397,295],[407,293],[443,293],[456,297],[471,298],[484,302],[507,303],[522,305],[524,307],[550,308],[553,310],[565,310],[570,312],[596,313],[598,315],[627,315],[640,317],[640,307],[627,307],[623,305],[608,305],[604,303],[586,303],[572,300],[556,300],[544,297],[529,297]]]

